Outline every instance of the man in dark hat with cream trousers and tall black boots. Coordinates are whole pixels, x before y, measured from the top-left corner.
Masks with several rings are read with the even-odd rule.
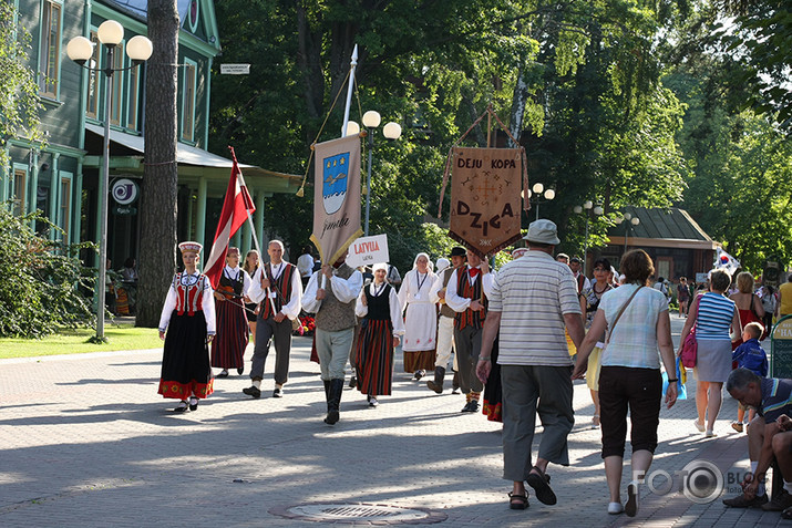
[[[430,391],[438,394],[443,392],[443,381],[445,380],[445,367],[449,364],[451,354],[454,350],[454,320],[456,312],[445,302],[445,294],[449,287],[449,280],[453,272],[464,266],[466,251],[465,248],[456,246],[451,250],[451,267],[444,269],[442,273],[438,273],[438,278],[429,292],[430,300],[440,303],[440,318],[438,322],[438,354],[434,361],[434,380],[429,380],[426,386]],[[456,365],[457,359],[454,358]],[[454,380],[459,377],[459,373],[454,372]]]

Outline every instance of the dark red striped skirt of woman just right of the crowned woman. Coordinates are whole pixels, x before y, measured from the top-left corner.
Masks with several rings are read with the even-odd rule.
[[[212,341],[212,366],[241,369],[250,329],[239,299],[215,302],[217,335]]]

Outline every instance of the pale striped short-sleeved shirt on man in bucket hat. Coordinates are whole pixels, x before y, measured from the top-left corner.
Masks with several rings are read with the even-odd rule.
[[[579,315],[580,303],[567,265],[527,251],[498,270],[488,309],[501,312],[498,364],[572,365],[564,314]]]

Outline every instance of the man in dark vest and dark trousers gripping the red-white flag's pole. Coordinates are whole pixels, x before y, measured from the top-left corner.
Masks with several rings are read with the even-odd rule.
[[[267,247],[269,263],[256,271],[250,287],[250,300],[260,302],[256,345],[253,350],[253,384],[243,389],[248,396],[261,396],[264,364],[269,354],[269,342],[275,342],[275,391],[272,397],[284,395],[289,376],[291,352],[291,321],[300,314],[302,281],[297,267],[284,260],[284,244],[272,240]],[[275,309],[274,309],[275,308]]]

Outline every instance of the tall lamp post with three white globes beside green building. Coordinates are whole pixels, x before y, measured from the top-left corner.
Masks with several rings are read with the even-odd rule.
[[[93,55],[93,43],[85,37],[75,37],[66,44],[69,59],[82,68],[103,72],[104,81],[104,143],[102,156],[102,177],[100,179],[100,244],[99,244],[99,278],[96,279],[96,341],[104,338],[104,288],[107,277],[107,188],[110,187],[110,112],[113,103],[112,80],[113,73],[137,68],[152,55],[152,41],[143,35],[136,35],[126,43],[126,55],[132,60],[128,68],[113,68],[115,48],[124,39],[124,27],[115,20],[105,20],[99,27],[99,41],[105,49],[105,68],[85,65]]]

